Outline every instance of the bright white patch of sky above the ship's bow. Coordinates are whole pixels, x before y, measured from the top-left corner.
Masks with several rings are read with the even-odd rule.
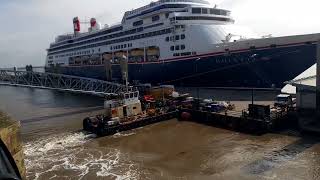
[[[286,36],[319,33],[318,0],[225,0],[222,7],[232,10],[239,25],[250,27],[260,35]]]

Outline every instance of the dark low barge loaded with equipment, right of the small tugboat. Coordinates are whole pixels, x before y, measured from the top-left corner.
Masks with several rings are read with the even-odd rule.
[[[248,109],[242,111],[217,108],[215,104],[207,106],[192,103],[183,107],[178,119],[250,134],[273,132],[294,123],[294,110],[287,106],[271,108],[270,105],[249,104]]]

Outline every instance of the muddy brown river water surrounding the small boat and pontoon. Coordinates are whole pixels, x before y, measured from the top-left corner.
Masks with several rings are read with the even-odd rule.
[[[200,94],[251,99],[251,91]],[[256,92],[255,100],[269,102],[275,94]],[[82,119],[102,104],[87,95],[0,86],[0,109],[21,121],[28,179],[320,178],[316,138],[295,131],[254,136],[177,120],[103,138],[82,132]]]

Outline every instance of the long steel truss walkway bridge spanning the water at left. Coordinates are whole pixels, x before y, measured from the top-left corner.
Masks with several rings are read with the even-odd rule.
[[[122,84],[63,74],[0,70],[0,85],[50,89],[98,96],[113,96],[132,91]]]

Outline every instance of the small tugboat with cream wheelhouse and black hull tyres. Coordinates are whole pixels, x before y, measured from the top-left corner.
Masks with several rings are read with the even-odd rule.
[[[158,104],[162,104],[159,106]],[[139,99],[139,91],[120,94],[104,103],[105,113],[83,120],[83,129],[98,136],[107,136],[157,122],[173,119],[175,109],[166,108],[164,100],[156,101],[151,96]]]

